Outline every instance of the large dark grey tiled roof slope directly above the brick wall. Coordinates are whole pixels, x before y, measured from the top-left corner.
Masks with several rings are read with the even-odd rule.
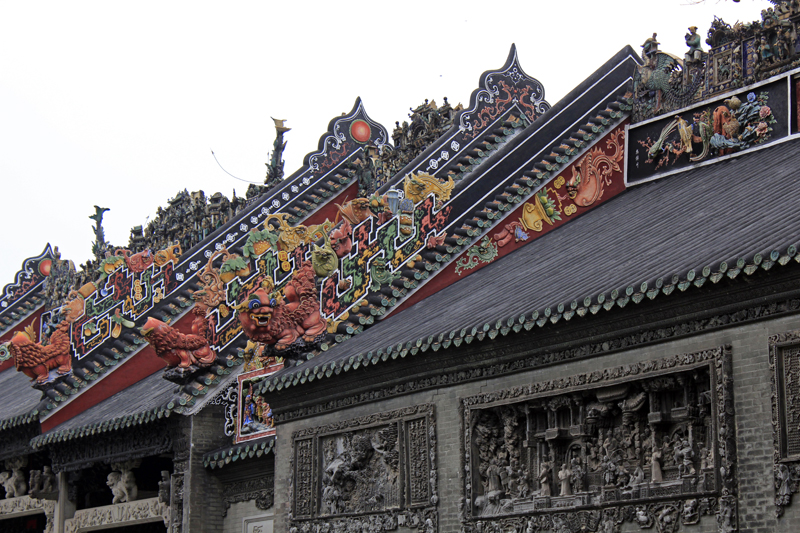
[[[662,286],[684,290],[785,264],[800,241],[797,168],[800,143],[790,141],[629,189],[260,388],[329,377],[436,339],[518,331],[523,322],[528,329],[637,294],[668,294]]]

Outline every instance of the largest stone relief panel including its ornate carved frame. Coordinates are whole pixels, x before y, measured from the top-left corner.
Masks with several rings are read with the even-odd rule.
[[[735,531],[730,376],[722,347],[462,399],[462,531]]]

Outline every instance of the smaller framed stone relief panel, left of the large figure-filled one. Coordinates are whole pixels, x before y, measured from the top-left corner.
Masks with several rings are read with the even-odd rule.
[[[293,435],[292,533],[438,528],[433,405]]]

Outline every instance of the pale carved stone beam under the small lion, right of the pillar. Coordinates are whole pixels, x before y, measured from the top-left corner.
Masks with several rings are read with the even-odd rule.
[[[169,525],[169,506],[158,501],[158,498],[148,498],[76,511],[74,518],[65,520],[64,531],[79,533],[159,521]]]

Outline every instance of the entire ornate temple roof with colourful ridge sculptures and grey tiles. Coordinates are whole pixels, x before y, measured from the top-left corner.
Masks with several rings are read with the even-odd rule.
[[[773,22],[715,21],[712,49],[683,60],[625,47],[552,107],[512,46],[466,107],[426,101],[392,135],[357,99],[282,181],[276,121],[274,186],[226,217],[212,196],[218,227],[189,249],[169,228],[145,249],[139,228],[112,250],[96,206],[95,278],[48,246],[3,292],[0,380],[16,396],[0,430],[40,424],[43,447],[223,401],[237,443],[206,460],[222,466],[271,446],[243,438],[243,396],[253,414],[269,409],[254,396],[791,265],[791,199],[767,194],[797,164],[796,60],[753,55],[780,41]],[[171,207],[205,201],[187,190]],[[280,361],[243,393],[244,372]]]

